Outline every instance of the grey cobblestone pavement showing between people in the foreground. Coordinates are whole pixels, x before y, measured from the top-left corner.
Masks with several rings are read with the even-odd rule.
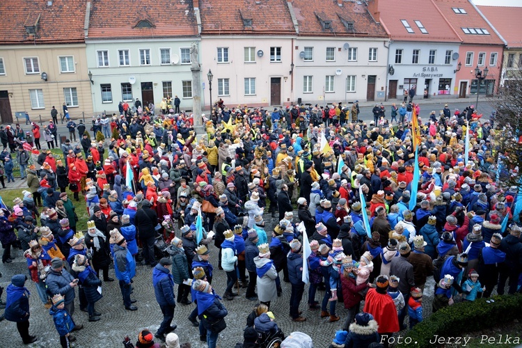
[[[265,230],[271,231],[273,229],[274,220],[268,214],[265,214]],[[296,218],[294,220],[296,221]],[[226,287],[226,274],[224,271],[217,270],[217,248],[211,246],[210,251],[212,252],[211,263],[216,268],[212,286],[218,294],[222,295]],[[12,263],[0,264],[0,271],[3,273],[3,278],[0,278],[2,287],[7,287],[13,274],[27,274],[26,262],[22,257],[22,251],[16,250],[15,255],[16,259]],[[116,278],[112,268],[109,275]],[[281,273],[280,276],[282,278],[283,274]],[[427,303],[424,310],[425,317],[431,314],[433,284],[432,278],[429,278],[424,296],[425,303]],[[78,297],[76,297],[74,320],[78,324],[84,324],[84,329],[73,333],[77,338],[77,341],[74,342],[74,347],[122,347],[122,338],[125,335],[129,335],[134,343],[139,331],[142,329],[148,328],[152,332],[158,329],[162,316],[155,300],[154,288],[152,287],[152,269],[148,266],[138,266],[133,285],[134,293],[132,297],[137,300],[136,306],[139,309],[130,312],[125,310],[123,306],[118,282],[103,284],[104,297],[96,303],[96,310],[102,313],[102,320],[99,322],[88,322],[88,315],[79,310]],[[31,292],[31,319],[29,320],[31,326],[29,332],[31,335],[38,337],[38,341],[28,347],[60,347],[58,333],[54,328],[52,317],[49,315],[49,311],[43,308],[34,284],[31,280],[27,280],[26,286]],[[322,319],[319,317],[318,310],[308,310],[308,306],[306,306],[308,299],[307,286],[300,308],[307,320],[303,323],[294,323],[289,316],[290,283],[282,282],[282,287],[283,295],[271,303],[271,310],[274,312],[280,329],[283,330],[285,335],[289,335],[294,331],[305,332],[313,338],[315,347],[328,347],[333,339],[335,330],[341,329],[346,317],[346,310],[342,303],[337,305],[337,314],[341,317],[340,321],[329,323],[328,318]],[[221,332],[219,336],[218,347],[220,348],[234,347],[235,343],[242,342],[246,317],[256,304],[255,301],[245,299],[245,290],[239,289],[240,296],[235,297],[233,301],[223,301],[228,309],[228,316],[226,317],[227,329]],[[175,291],[177,294],[177,289]],[[317,292],[316,300],[321,301],[323,294],[324,292]],[[2,295],[2,299],[3,301],[6,300],[5,294]],[[198,329],[193,327],[187,319],[194,306],[194,304],[183,306],[177,303],[174,314],[174,322],[177,324],[175,332],[180,335],[181,342],[191,342],[194,348],[207,347],[204,342],[200,342]],[[4,320],[1,324],[5,328],[3,330],[2,342],[12,342],[13,345],[11,347],[21,347],[22,340],[19,338],[15,323]],[[0,347],[2,346],[5,347],[0,343]]]

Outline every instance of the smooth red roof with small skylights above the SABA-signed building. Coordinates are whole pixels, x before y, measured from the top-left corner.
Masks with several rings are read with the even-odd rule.
[[[380,0],[379,11],[381,22],[388,29],[392,40],[460,42],[459,35],[431,0]],[[406,31],[402,20],[408,22],[413,33]],[[420,31],[416,21],[422,24],[427,33]]]

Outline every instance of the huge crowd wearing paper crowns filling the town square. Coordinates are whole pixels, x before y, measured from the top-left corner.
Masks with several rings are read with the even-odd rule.
[[[117,139],[91,141],[83,122],[70,120],[70,137],[77,131],[81,140],[61,145],[63,160],[41,150],[36,136],[24,138],[18,125],[7,127],[4,143],[0,128],[8,180],[16,156],[28,185],[12,208],[0,210],[2,262],[11,262],[11,246],[20,244],[29,269],[29,277],[12,278],[5,318],[17,322],[24,343],[36,340],[29,335],[30,278],[69,347],[70,333],[83,327],[75,320],[76,294],[88,321],[99,321],[95,303],[102,283],[114,280],[111,264],[132,311],[139,310],[131,296],[136,263],[152,267],[164,320],[155,334],[142,331],[137,347],[159,347],[154,338],[179,347],[177,339],[168,344],[175,306],[192,302],[189,322],[216,347],[228,315],[222,300],[238,301],[237,287],[258,303],[237,347],[285,339],[271,312],[283,282],[290,283],[293,322],[306,322],[299,310],[306,280],[308,315],[317,310],[338,322],[343,303],[346,317],[331,347],[382,342],[406,329],[406,317],[410,329],[422,322],[425,306],[436,312],[489,297],[495,287],[504,294],[506,281],[509,294],[519,292],[519,191],[499,183],[492,141],[503,126],[482,121],[473,106],[451,113],[446,105],[422,122],[418,105],[402,106],[404,114],[394,105],[395,126],[376,108],[377,119],[367,124],[357,103],[267,111],[220,102],[201,116],[204,130],[196,134],[184,112],[161,106],[155,115],[139,105],[133,115],[122,107],[119,116],[93,120],[93,132],[116,129]],[[38,128],[33,123],[33,134]],[[18,141],[10,132],[20,132]],[[84,233],[69,192],[85,201]],[[271,231],[267,214],[276,219]],[[158,235],[168,244],[164,255],[155,250]],[[212,244],[217,265],[209,263]],[[212,278],[221,271],[226,288],[216,290]],[[425,303],[430,276],[434,299]]]

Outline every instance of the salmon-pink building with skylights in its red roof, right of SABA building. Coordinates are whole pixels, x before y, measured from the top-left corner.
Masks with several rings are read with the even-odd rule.
[[[488,69],[486,79],[481,81],[480,95],[493,95],[500,83],[502,54],[505,42],[469,0],[433,0],[445,19],[461,38],[457,72],[459,97],[477,95],[475,68]]]

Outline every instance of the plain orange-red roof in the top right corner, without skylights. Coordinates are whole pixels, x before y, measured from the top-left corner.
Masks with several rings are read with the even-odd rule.
[[[507,41],[509,48],[522,48],[522,7],[477,6]]]

